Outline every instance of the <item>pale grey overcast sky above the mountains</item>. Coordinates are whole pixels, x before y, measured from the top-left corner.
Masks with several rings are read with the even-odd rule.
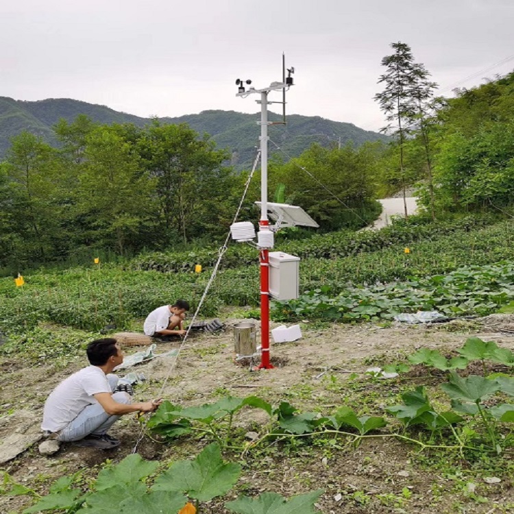
[[[391,42],[410,45],[450,96],[514,69],[513,26],[513,0],[3,0],[0,96],[141,117],[257,112],[234,81],[280,80],[284,51],[290,114],[378,130]]]

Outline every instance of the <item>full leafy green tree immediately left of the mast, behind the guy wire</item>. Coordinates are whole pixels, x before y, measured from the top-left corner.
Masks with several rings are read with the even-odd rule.
[[[138,151],[157,180],[162,243],[173,234],[186,243],[217,228],[220,219],[228,221],[233,186],[241,181],[234,180],[232,170],[223,165],[228,152],[215,149],[208,135],[200,137],[186,124],[154,121],[142,132]]]

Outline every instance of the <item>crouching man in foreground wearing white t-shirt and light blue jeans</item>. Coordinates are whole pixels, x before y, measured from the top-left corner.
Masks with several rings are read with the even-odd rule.
[[[120,445],[108,430],[123,414],[155,411],[159,401],[132,403],[123,391],[114,392],[118,377],[111,371],[123,363],[116,339],[88,344],[90,366],[77,371],[54,389],[45,403],[41,428],[58,441],[109,450]]]

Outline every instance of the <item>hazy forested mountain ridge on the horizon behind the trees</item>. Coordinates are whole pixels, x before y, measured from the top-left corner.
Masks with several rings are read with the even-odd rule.
[[[47,143],[57,145],[52,126],[61,118],[73,121],[78,114],[86,114],[97,123],[134,123],[140,127],[151,121],[133,114],[119,112],[106,106],[73,99],[46,99],[39,101],[14,100],[0,97],[0,159],[10,147],[10,138],[23,130],[41,136]],[[232,164],[238,169],[250,167],[259,145],[260,130],[257,121],[260,113],[244,114],[224,110],[206,110],[200,114],[186,114],[176,118],[159,118],[162,123],[187,123],[193,130],[212,136],[219,148],[230,150]],[[269,113],[270,121],[281,121],[282,117]],[[318,116],[308,117],[291,114],[287,125],[271,125],[270,151],[278,145],[288,156],[296,157],[313,143],[323,146],[345,145],[352,141],[359,146],[366,141],[389,138],[377,132],[366,131],[352,123],[330,121]],[[273,144],[274,143],[274,144]]]

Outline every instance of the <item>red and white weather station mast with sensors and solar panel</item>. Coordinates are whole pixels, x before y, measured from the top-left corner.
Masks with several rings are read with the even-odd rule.
[[[282,54],[282,82],[271,82],[267,88],[256,89],[250,84],[251,80],[236,79],[236,86],[238,86],[237,97],[248,97],[249,95],[260,95],[260,99],[256,100],[260,103],[260,121],[257,123],[260,125],[260,202],[256,204],[260,205],[260,219],[259,219],[259,231],[257,234],[257,245],[259,250],[259,263],[260,263],[260,345],[261,345],[261,362],[258,369],[271,369],[273,365],[270,360],[270,347],[269,347],[269,299],[270,299],[270,255],[269,250],[273,248],[274,232],[284,227],[292,227],[295,225],[307,225],[317,227],[319,226],[308,214],[299,207],[290,206],[288,204],[274,204],[268,201],[268,127],[269,125],[275,124],[286,124],[286,91],[293,86],[293,73],[295,69],[291,67],[287,70],[286,76],[285,67],[285,56]],[[248,86],[246,88],[245,86]],[[273,91],[282,91],[282,101],[269,101],[268,95]],[[282,103],[283,120],[278,122],[268,121],[268,105],[270,103]],[[276,221],[276,225],[269,224],[269,216]],[[237,225],[237,226],[235,226]],[[251,232],[254,232],[253,225],[248,228],[248,225],[252,225],[249,222],[234,223],[231,227],[232,238],[236,241],[251,241],[253,236]],[[278,253],[278,252],[273,252]],[[283,256],[284,254],[281,254]],[[288,256],[293,257],[293,256]],[[293,260],[299,261],[299,258],[293,257]],[[296,276],[292,277],[292,281],[289,277],[286,279],[284,273],[282,273],[282,282],[286,279],[288,282],[295,282],[293,285],[293,293],[289,295],[282,295],[280,293],[273,293],[273,297],[276,299],[291,299],[297,297],[297,267],[295,268]],[[274,282],[280,282],[279,271],[273,273]],[[273,288],[272,288],[273,289]],[[275,288],[276,289],[276,288]]]

